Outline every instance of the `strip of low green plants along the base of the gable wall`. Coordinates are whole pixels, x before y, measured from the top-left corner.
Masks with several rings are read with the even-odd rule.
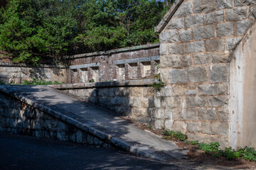
[[[256,151],[252,147],[240,148],[238,151],[235,151],[235,149],[232,149],[231,147],[219,149],[220,144],[218,142],[210,142],[209,144],[204,142],[199,143],[198,140],[188,142],[188,137],[186,135],[183,135],[181,132],[174,132],[173,130],[169,131],[163,129],[163,136],[164,140],[178,140],[186,144],[197,146],[198,149],[201,149],[206,154],[211,154],[214,157],[225,157],[230,160],[243,159],[250,162],[256,161]]]

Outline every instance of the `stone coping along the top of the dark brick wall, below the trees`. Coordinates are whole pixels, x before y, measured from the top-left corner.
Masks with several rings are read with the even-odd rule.
[[[144,49],[149,49],[149,48],[156,48],[160,47],[159,43],[154,43],[154,44],[149,44],[149,45],[137,45],[133,47],[124,47],[124,48],[118,48],[114,50],[109,50],[109,51],[102,51],[102,52],[90,52],[90,53],[85,53],[85,54],[80,54],[80,55],[70,55],[67,56],[66,59],[75,59],[75,58],[82,58],[82,57],[92,57],[92,56],[97,56],[97,55],[111,55],[114,53],[118,52],[129,52],[129,51],[134,51],[134,50],[144,50]]]

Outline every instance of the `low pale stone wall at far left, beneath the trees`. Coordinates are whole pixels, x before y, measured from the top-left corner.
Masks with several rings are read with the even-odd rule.
[[[31,78],[46,81],[68,81],[69,71],[63,66],[0,63],[0,81],[6,84],[21,84]]]

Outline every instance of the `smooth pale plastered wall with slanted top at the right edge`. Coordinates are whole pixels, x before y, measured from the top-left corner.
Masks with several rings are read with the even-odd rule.
[[[256,147],[256,25],[230,62],[230,139],[233,147]]]

